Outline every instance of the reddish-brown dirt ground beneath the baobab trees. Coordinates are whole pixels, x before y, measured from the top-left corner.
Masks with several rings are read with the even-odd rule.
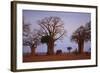
[[[53,55],[25,55],[23,56],[23,62],[39,62],[39,61],[60,61],[60,60],[81,60],[91,59],[91,53],[62,53]]]

